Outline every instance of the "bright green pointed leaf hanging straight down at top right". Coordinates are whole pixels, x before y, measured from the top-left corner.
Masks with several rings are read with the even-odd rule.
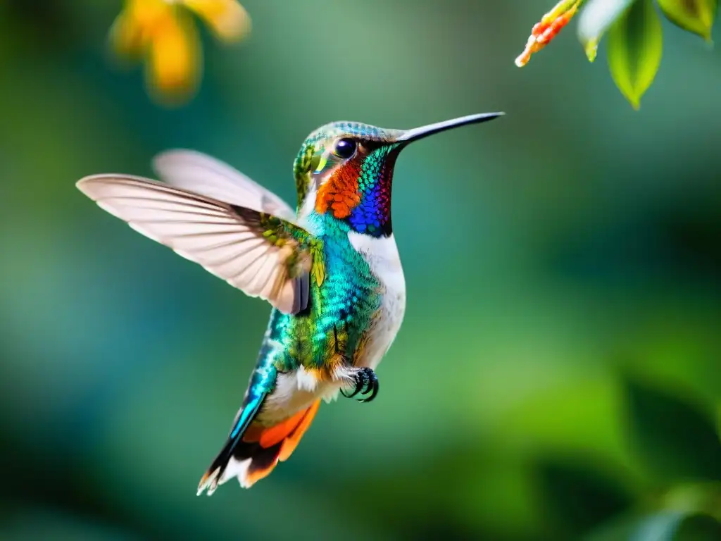
[[[616,19],[608,35],[609,69],[634,109],[661,63],[663,34],[652,0],[638,0]]]

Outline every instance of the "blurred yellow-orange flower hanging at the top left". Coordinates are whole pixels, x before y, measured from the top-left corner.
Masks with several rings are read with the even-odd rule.
[[[203,55],[192,13],[225,42],[250,29],[236,0],[125,0],[110,30],[118,55],[147,58],[149,89],[158,99],[186,100],[198,87]]]

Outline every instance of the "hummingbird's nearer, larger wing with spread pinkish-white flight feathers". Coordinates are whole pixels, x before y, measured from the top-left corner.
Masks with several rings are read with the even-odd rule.
[[[284,313],[306,308],[317,244],[290,221],[131,175],[93,175],[77,187],[136,231],[245,294]]]

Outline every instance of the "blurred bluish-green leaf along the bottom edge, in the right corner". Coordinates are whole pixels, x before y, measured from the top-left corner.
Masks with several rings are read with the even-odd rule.
[[[616,519],[584,541],[717,541],[721,524],[712,516],[666,512]]]

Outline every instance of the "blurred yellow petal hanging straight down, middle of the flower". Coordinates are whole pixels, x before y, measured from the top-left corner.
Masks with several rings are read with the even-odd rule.
[[[182,101],[193,94],[202,69],[200,52],[200,38],[190,17],[179,12],[156,28],[149,82],[159,99]]]

